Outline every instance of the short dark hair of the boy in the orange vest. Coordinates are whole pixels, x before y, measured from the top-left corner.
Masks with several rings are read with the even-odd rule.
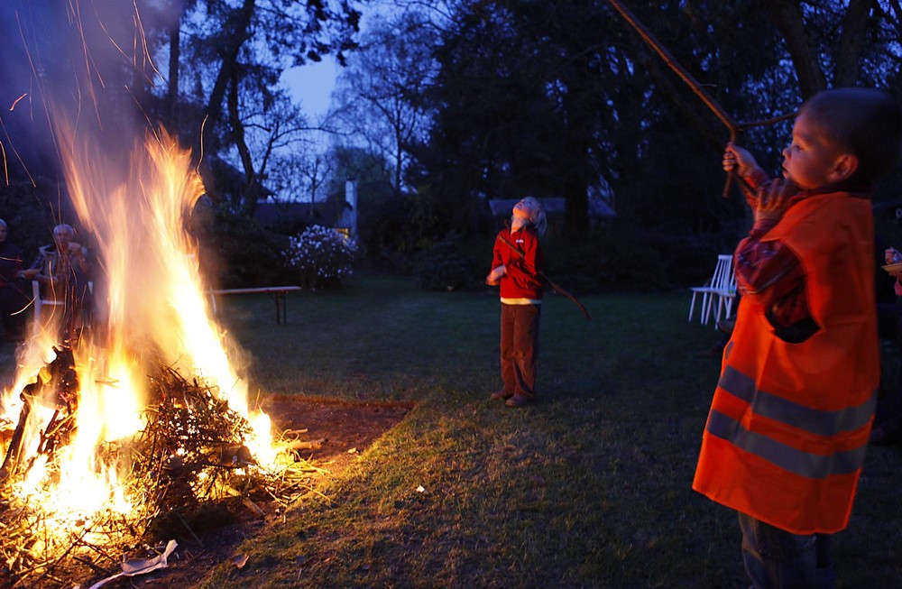
[[[850,181],[871,184],[902,152],[902,106],[876,88],[842,87],[808,98],[799,113],[819,127],[824,140],[858,158]]]

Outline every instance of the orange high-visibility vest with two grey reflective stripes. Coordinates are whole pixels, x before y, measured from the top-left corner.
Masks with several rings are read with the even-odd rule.
[[[821,194],[765,236],[802,263],[820,328],[788,344],[743,297],[704,428],[693,488],[796,534],[845,528],[861,474],[880,371],[871,215]]]

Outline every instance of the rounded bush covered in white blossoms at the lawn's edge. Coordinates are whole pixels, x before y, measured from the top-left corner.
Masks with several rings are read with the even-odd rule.
[[[285,261],[297,271],[301,286],[334,286],[351,273],[357,244],[335,229],[310,225],[304,233],[290,237]]]

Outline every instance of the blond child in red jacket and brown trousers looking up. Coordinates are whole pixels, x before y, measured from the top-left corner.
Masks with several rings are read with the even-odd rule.
[[[501,285],[502,382],[493,400],[521,407],[535,398],[538,360],[538,318],[541,316],[542,248],[548,222],[541,203],[523,198],[513,206],[511,227],[502,229],[492,248],[492,271],[486,284]]]

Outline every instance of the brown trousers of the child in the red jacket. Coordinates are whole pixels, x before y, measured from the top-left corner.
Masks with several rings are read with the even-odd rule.
[[[504,392],[533,399],[536,394],[540,305],[502,303],[502,381]]]

